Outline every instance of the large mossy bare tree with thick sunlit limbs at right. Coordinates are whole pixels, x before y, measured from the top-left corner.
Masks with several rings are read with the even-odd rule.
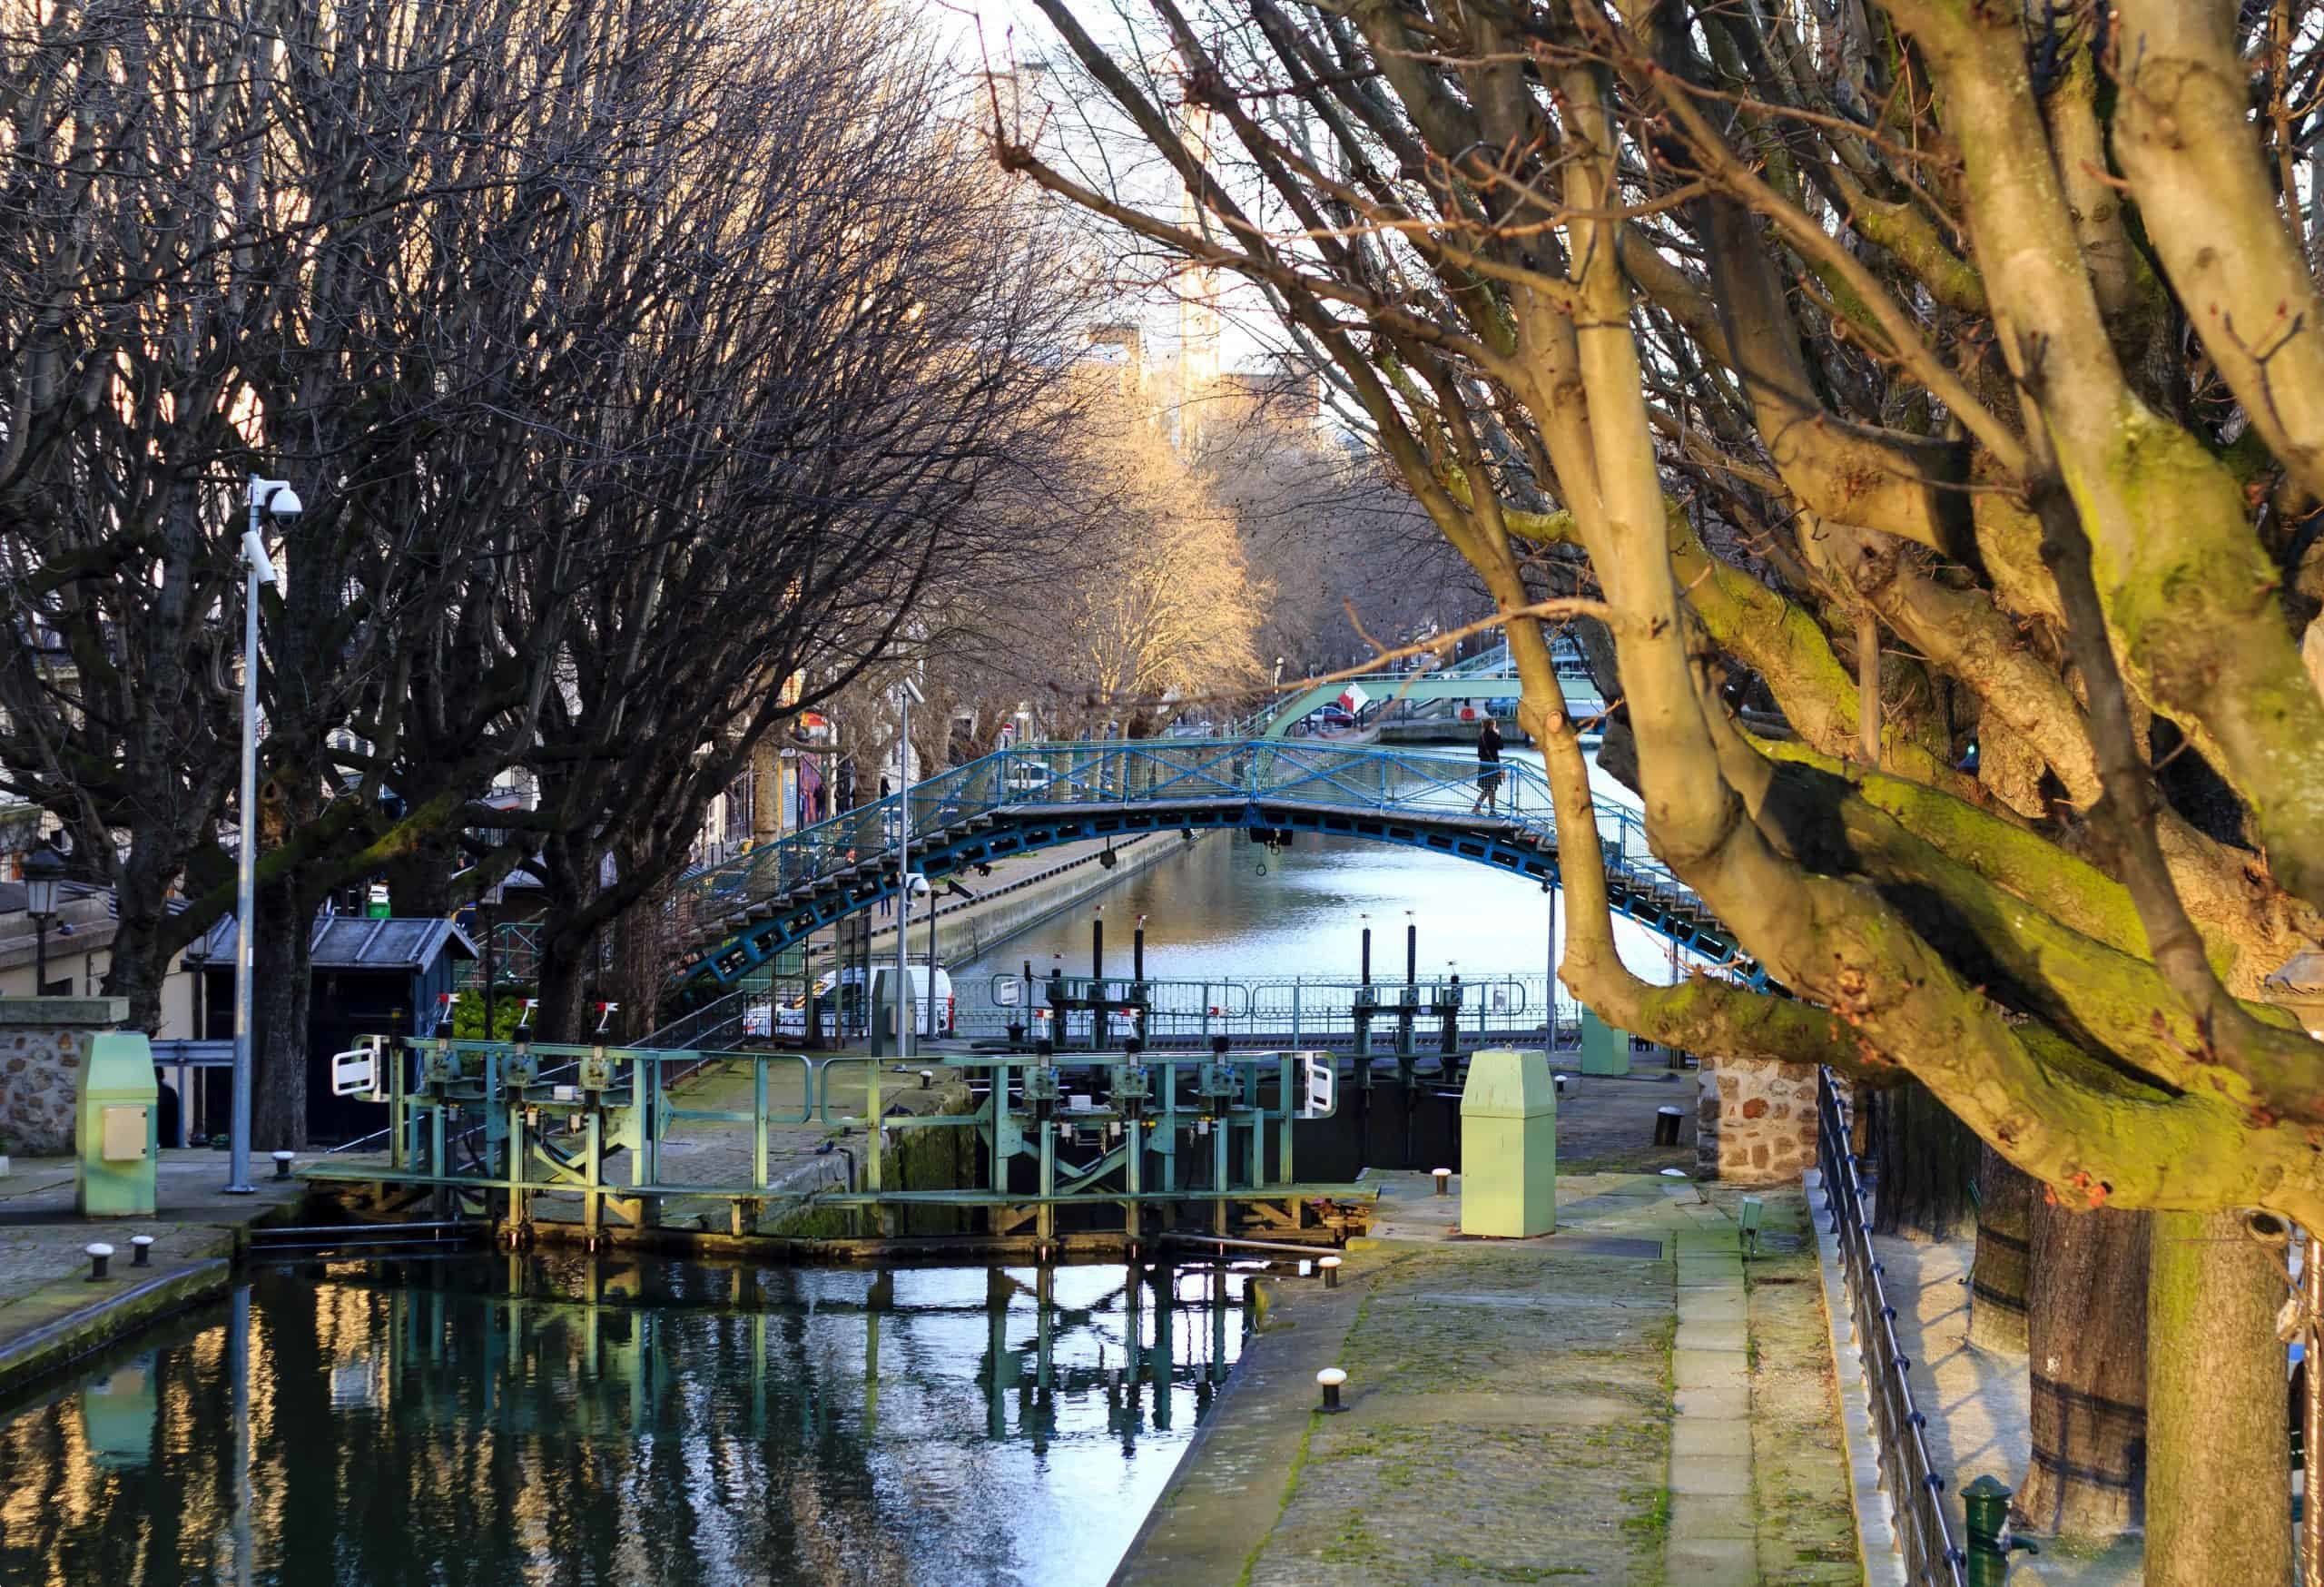
[[[1513,618],[1580,997],[1906,1069],[2052,1197],[2150,1208],[2180,1285],[2236,1208],[2324,1227],[2317,1048],[2259,1001],[2324,927],[2312,19],[1153,0],[1132,58],[1037,5],[1195,216],[1002,163],[1262,295],[1504,611],[1594,581],[1655,850],[1787,997],[1622,969]],[[2150,1580],[2284,1573],[2217,1494],[2282,1492],[2282,1406],[2189,1394],[2266,1285],[2215,1294],[2152,1306]]]

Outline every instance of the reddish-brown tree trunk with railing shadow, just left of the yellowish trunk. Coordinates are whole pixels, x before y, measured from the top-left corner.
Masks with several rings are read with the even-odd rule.
[[[2033,1206],[2022,1531],[2103,1545],[2145,1524],[2147,1220],[2047,1197]]]

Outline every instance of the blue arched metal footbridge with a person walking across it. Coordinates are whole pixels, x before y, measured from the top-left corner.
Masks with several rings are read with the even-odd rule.
[[[944,881],[1053,843],[1181,830],[1315,832],[1404,843],[1550,888],[1557,818],[1538,767],[1501,762],[1478,811],[1476,760],[1283,739],[1132,739],[1006,748],[681,878],[683,978],[734,985],[813,932],[897,892],[899,804],[911,869]],[[1615,911],[1757,981],[1734,936],[1645,843],[1638,811],[1597,799]]]

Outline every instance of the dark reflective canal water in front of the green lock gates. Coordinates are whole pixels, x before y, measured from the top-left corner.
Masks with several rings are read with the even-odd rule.
[[[263,1273],[0,1424],[5,1582],[1104,1582],[1243,1273]]]

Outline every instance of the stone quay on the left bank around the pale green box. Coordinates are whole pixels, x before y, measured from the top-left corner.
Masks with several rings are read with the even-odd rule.
[[[272,1164],[258,1159],[258,1173]],[[258,1178],[228,1197],[225,1152],[165,1150],[153,1218],[84,1220],[72,1157],[19,1157],[0,1178],[0,1392],[56,1371],[149,1320],[223,1294],[244,1229],[297,1204],[297,1180]],[[130,1266],[130,1236],[151,1234],[151,1269]],[[114,1248],[91,1283],[84,1245]]]

